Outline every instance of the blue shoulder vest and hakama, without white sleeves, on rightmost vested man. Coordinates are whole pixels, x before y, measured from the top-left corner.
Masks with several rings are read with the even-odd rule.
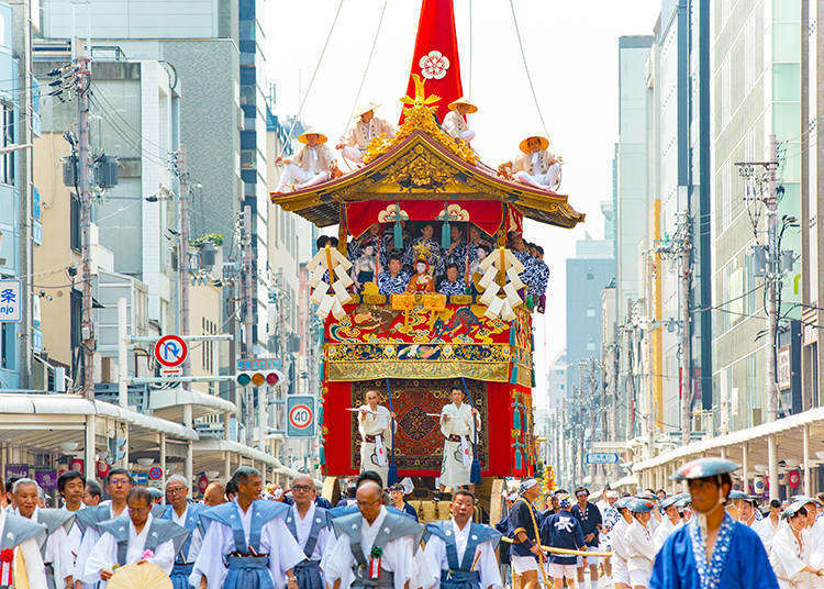
[[[489,525],[472,522],[469,525],[471,527],[464,557],[458,562],[458,546],[455,542],[452,520],[426,524],[424,540],[428,542],[431,536],[437,536],[446,545],[446,562],[449,568],[441,570],[441,589],[481,589],[480,571],[472,570],[476,548],[479,544],[492,542],[492,549],[495,549],[501,540],[501,533]]]

